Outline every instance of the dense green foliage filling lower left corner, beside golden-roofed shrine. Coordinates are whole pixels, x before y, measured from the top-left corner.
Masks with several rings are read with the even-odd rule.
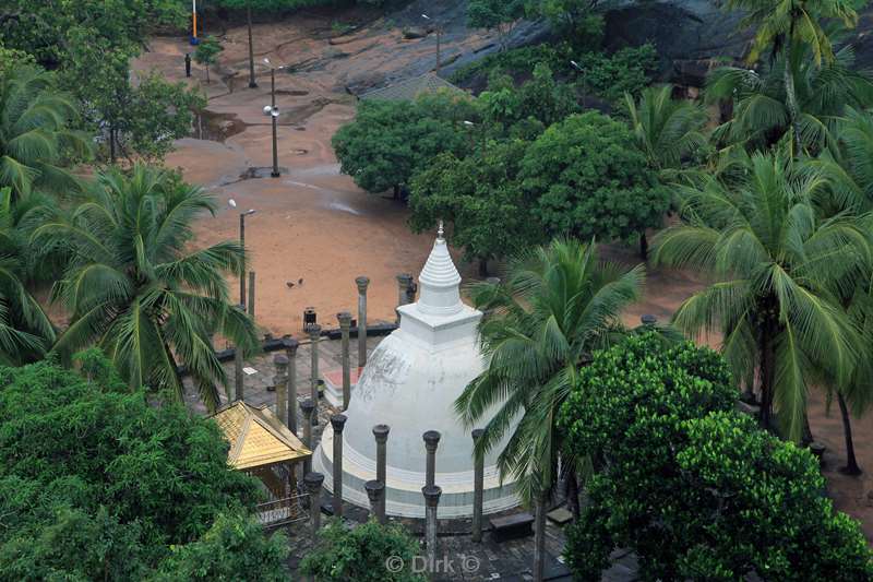
[[[190,579],[208,551],[227,580],[246,578],[235,562],[275,580],[285,543],[249,524],[256,482],[227,466],[215,424],[150,404],[97,354],[81,367],[0,368],[3,578]],[[213,541],[240,531],[246,543]]]

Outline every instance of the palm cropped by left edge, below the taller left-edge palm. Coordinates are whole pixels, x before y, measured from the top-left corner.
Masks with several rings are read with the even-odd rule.
[[[0,188],[0,363],[19,366],[43,357],[55,342],[55,328],[31,295],[34,265],[27,231],[48,200],[37,194],[13,203],[12,189]]]

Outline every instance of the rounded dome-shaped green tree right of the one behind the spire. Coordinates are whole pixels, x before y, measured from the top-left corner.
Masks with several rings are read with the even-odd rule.
[[[661,226],[670,193],[639,153],[626,126],[596,111],[555,123],[528,147],[519,174],[537,195],[547,233],[583,239],[639,239]]]

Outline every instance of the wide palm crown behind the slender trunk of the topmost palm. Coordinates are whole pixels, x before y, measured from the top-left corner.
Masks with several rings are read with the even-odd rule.
[[[733,104],[733,117],[714,132],[716,142],[763,150],[784,139],[790,140],[792,118],[785,83],[788,70],[796,93],[796,124],[801,145],[812,153],[833,146],[838,133],[836,126],[846,106],[873,106],[873,78],[856,70],[854,50],[850,46],[821,67],[811,50],[806,45],[792,50],[793,62],[789,68],[786,57],[780,55],[761,72],[741,67],[713,71],[706,82],[706,102]]]

